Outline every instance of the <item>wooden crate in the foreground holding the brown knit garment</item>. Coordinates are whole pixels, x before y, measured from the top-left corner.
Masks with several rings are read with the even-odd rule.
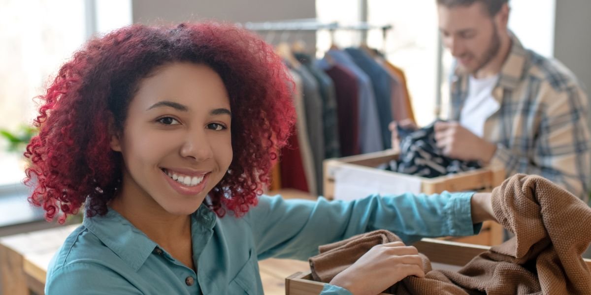
[[[420,253],[427,255],[434,269],[459,270],[469,263],[472,258],[487,251],[490,247],[466,244],[462,242],[441,241],[424,238],[414,244]],[[584,259],[587,267],[591,268],[591,260]],[[314,281],[310,272],[294,273],[285,278],[286,295],[317,295],[320,294],[324,283]],[[382,295],[388,293],[382,293]]]

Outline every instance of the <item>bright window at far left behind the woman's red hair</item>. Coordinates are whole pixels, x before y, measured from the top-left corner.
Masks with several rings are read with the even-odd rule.
[[[60,65],[93,32],[131,24],[131,0],[4,0],[0,2],[0,129],[15,132],[37,115]],[[24,178],[22,152],[0,139],[0,185]]]

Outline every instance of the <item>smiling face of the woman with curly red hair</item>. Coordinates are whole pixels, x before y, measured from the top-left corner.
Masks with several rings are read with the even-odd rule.
[[[230,101],[206,65],[173,63],[139,84],[121,137],[121,195],[155,201],[175,215],[193,213],[232,162]]]

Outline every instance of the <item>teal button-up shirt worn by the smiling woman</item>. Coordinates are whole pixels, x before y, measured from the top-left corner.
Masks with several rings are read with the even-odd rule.
[[[472,235],[471,193],[368,196],[352,202],[261,196],[242,218],[191,215],[197,273],[116,211],[85,218],[50,263],[46,294],[262,294],[258,260],[307,260],[318,246],[378,229],[407,244]],[[350,294],[327,285],[322,294]]]

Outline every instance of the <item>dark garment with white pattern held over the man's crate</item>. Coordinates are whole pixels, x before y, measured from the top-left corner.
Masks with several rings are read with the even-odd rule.
[[[442,155],[435,143],[435,123],[418,130],[398,126],[400,157],[390,162],[390,170],[434,178],[480,168],[477,161],[450,159]]]

